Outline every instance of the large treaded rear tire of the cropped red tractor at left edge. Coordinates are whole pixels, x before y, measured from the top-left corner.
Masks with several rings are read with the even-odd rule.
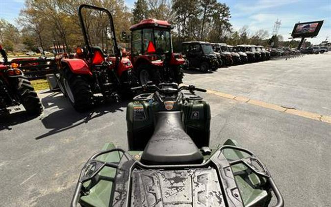
[[[25,77],[18,78],[17,91],[21,98],[21,103],[28,114],[39,115],[43,112],[43,106],[37,93],[35,92],[30,81],[28,81]]]

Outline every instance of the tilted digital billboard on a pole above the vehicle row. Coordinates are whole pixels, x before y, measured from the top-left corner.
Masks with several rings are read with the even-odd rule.
[[[294,25],[291,36],[296,37],[315,37],[323,25],[322,21],[297,23]]]

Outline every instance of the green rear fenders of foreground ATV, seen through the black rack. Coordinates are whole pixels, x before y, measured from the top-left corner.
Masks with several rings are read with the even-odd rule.
[[[231,145],[231,146],[238,146],[238,143],[235,140],[228,139],[224,145]],[[113,143],[107,143],[103,146],[103,150],[111,150],[115,149],[115,145]],[[212,150],[212,154],[215,153],[217,150]],[[129,151],[129,154],[132,155],[135,159],[140,159],[142,151]],[[211,155],[205,155],[204,160],[208,159]],[[232,149],[225,149],[223,152],[224,156],[229,160],[237,160],[241,158],[247,157],[244,152],[232,150]],[[119,152],[111,152],[104,155],[100,155],[98,160],[100,161],[107,161],[107,162],[119,162],[121,159],[121,155]],[[260,180],[255,174],[250,174],[248,176],[249,183],[247,181],[247,177],[242,176],[238,172],[246,172],[247,167],[243,164],[237,164],[231,167],[232,172],[234,174],[235,181],[237,186],[239,187],[240,194],[242,200],[245,204],[245,207],[250,207],[252,204],[254,206],[258,204],[258,206],[265,207],[271,200],[271,193],[267,192],[263,189],[254,188],[253,185],[258,185],[263,182],[263,179]],[[106,176],[115,178],[116,176],[116,169],[111,167],[104,167],[99,176]],[[246,180],[245,180],[246,179]],[[83,184],[84,187],[88,185],[93,186],[93,181],[87,181]],[[83,207],[109,207],[109,201],[112,198],[112,189],[113,188],[113,181],[104,181],[101,180],[97,184],[95,184],[86,195],[82,195],[80,197],[79,203]]]

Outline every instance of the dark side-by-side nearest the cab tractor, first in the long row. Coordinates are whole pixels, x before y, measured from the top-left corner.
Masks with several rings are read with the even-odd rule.
[[[199,68],[206,73],[216,71],[220,67],[217,54],[208,42],[183,42],[182,53],[188,60],[189,68]]]

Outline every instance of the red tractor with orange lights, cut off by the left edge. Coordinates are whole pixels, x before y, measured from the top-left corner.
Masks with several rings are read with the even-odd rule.
[[[1,45],[0,53],[3,58],[3,62],[0,62],[0,114],[7,114],[7,107],[20,104],[23,104],[28,114],[41,114],[43,107],[30,81],[17,63],[9,64]]]

